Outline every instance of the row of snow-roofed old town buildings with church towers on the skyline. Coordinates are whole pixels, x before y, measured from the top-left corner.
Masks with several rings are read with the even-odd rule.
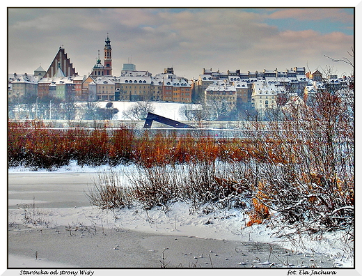
[[[267,108],[285,105],[292,97],[304,100],[326,86],[340,89],[344,79],[323,79],[319,70],[306,72],[304,67],[288,70],[227,72],[203,69],[197,79],[175,75],[173,67],[155,76],[148,70],[136,70],[133,63],[123,63],[119,76],[113,75],[112,47],[109,34],[104,40],[104,59],[97,59],[88,76],[79,76],[63,46],[58,48],[47,71],[42,66],[34,75],[9,75],[8,98],[52,96],[63,101],[162,101],[162,102],[226,102],[229,109],[244,105],[263,113]]]

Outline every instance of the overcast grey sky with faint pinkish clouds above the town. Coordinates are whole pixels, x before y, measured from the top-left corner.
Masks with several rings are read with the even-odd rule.
[[[116,76],[123,63],[189,79],[203,68],[352,72],[324,55],[352,60],[353,8],[9,8],[8,72],[47,70],[63,45],[88,75],[107,33]]]

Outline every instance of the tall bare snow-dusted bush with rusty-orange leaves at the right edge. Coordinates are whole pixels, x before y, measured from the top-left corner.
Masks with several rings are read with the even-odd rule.
[[[259,156],[253,160],[264,182],[258,192],[267,194],[259,201],[298,226],[298,231],[353,227],[351,96],[320,92],[313,105],[291,105],[270,114],[262,128],[258,121],[251,128]]]

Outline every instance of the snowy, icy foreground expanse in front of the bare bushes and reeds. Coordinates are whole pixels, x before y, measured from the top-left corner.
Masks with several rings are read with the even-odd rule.
[[[9,172],[8,254],[9,265],[14,267],[37,267],[38,265],[42,267],[48,262],[60,263],[59,267],[76,266],[77,261],[71,263],[63,259],[61,254],[69,252],[66,256],[72,256],[71,260],[85,261],[87,258],[77,250],[86,254],[92,252],[89,246],[97,239],[103,239],[103,242],[98,245],[104,245],[102,250],[97,248],[98,251],[95,251],[98,252],[97,256],[119,254],[123,251],[118,249],[114,250],[118,253],[112,251],[112,248],[116,248],[116,242],[112,240],[117,235],[129,235],[127,240],[132,241],[132,246],[139,245],[137,247],[139,256],[143,256],[141,257],[142,268],[147,266],[160,268],[162,266],[160,260],[164,257],[168,258],[165,259],[164,264],[171,261],[168,267],[182,266],[182,268],[189,268],[195,263],[202,268],[354,267],[354,257],[350,254],[353,241],[348,240],[343,231],[324,233],[324,235],[300,234],[292,238],[283,238],[277,235],[276,225],[268,222],[246,227],[248,215],[240,209],[219,210],[205,206],[198,212],[190,212],[189,206],[180,202],[171,204],[168,210],[163,210],[161,207],[151,210],[141,207],[115,211],[100,210],[90,206],[84,194],[86,187],[92,183],[91,178],[94,177],[93,173],[90,174],[91,170],[83,168],[77,171],[75,167],[68,167],[68,169],[47,172],[16,170]],[[76,201],[81,204],[77,205]],[[274,217],[273,222],[277,219]],[[195,243],[196,239],[203,240],[205,244],[214,243],[215,246],[202,247]],[[157,246],[146,246],[146,240],[148,240],[148,245]],[[152,240],[154,241],[151,242]],[[25,252],[23,249],[26,243],[28,243],[28,251]],[[38,244],[42,243],[45,243],[44,246],[38,247]],[[221,248],[220,244],[224,243],[230,246],[222,253],[217,252]],[[77,244],[81,247],[77,247]],[[47,249],[49,247],[47,245],[50,245],[50,249]],[[57,251],[58,245],[66,246]],[[180,247],[181,245],[191,246],[191,248]],[[264,248],[264,252],[260,256],[249,256],[247,250],[240,249],[244,245]],[[165,249],[166,247],[168,249]],[[127,245],[125,248],[127,249]],[[284,256],[282,251],[278,251],[281,248],[287,255]],[[135,249],[135,256],[138,251]],[[34,255],[36,252],[40,260]],[[150,261],[145,261],[147,258],[142,252],[147,254]],[[277,253],[274,254],[275,252]],[[212,253],[222,256],[222,258],[218,257],[222,262],[214,259],[217,256],[213,256]],[[288,254],[293,255],[294,259],[291,259],[291,255]],[[125,252],[124,255],[132,256]],[[199,256],[203,256],[202,260],[198,258]],[[274,256],[278,259],[272,259]],[[195,257],[198,259],[194,259]],[[132,258],[134,261],[132,265],[137,267],[140,263],[137,263],[136,259],[137,257]],[[94,266],[96,260],[91,259],[89,263]],[[89,266],[87,263],[84,264]],[[115,264],[104,263],[108,267]],[[97,266],[102,266],[102,262]]]

